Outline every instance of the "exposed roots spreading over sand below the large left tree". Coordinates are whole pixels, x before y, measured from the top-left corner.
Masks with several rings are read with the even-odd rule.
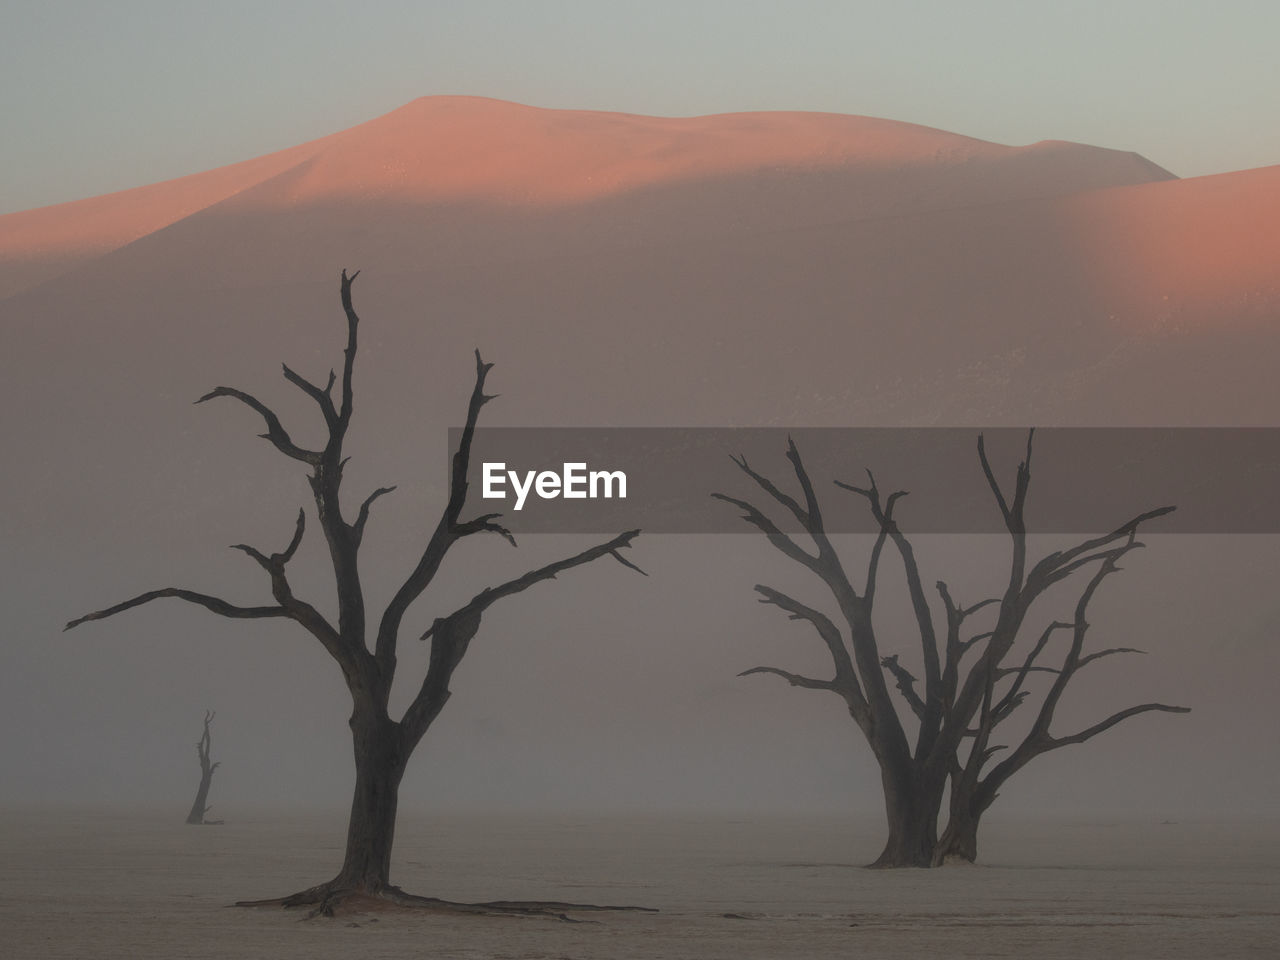
[[[236,906],[275,906],[283,909],[311,908],[306,919],[316,916],[348,916],[351,914],[385,913],[389,910],[421,911],[433,914],[474,914],[485,916],[547,916],[563,923],[588,923],[570,916],[570,913],[602,913],[628,910],[658,913],[649,906],[600,906],[596,904],[570,904],[561,900],[490,900],[483,904],[462,904],[438,897],[406,893],[399,887],[385,884],[375,890],[320,883],[287,897],[271,900],[238,900]]]

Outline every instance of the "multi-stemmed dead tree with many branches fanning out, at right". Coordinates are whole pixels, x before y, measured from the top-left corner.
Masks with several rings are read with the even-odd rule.
[[[1114,714],[1079,733],[1057,739],[1048,733],[1048,723],[1052,721],[1062,689],[1076,669],[1110,653],[1120,652],[1083,653],[1087,628],[1084,611],[1089,599],[1101,580],[1115,570],[1119,557],[1140,545],[1135,540],[1138,527],[1169,513],[1172,507],[1135,516],[1110,534],[1085,540],[1068,550],[1050,553],[1028,567],[1024,508],[1030,483],[1030,454],[1032,434],[1028,434],[1027,458],[1018,467],[1012,497],[1006,498],[979,436],[978,458],[1011,538],[1009,579],[1000,596],[968,607],[955,603],[946,582],[938,581],[937,593],[946,623],[946,628],[941,632],[934,625],[933,609],[915,552],[893,516],[899,502],[906,495],[905,490],[882,495],[870,472],[867,486],[836,481],[837,486],[867,500],[878,527],[865,579],[859,586],[854,585],[831,543],[823,525],[817,493],[794,442],[788,442],[787,460],[800,486],[799,499],[751,468],[745,458],[735,460],[735,463],[774,504],[796,520],[806,539],[812,541],[812,549],[806,549],[795,536],[785,532],[754,503],[713,494],[717,499],[742,509],[744,518],[764,532],[773,547],[808,568],[824,585],[835,602],[835,608],[840,612],[841,623],[837,625],[837,618],[827,616],[815,607],[804,604],[774,588],[756,585],[760,603],[780,607],[791,620],[809,623],[826,644],[835,673],[829,680],[822,680],[799,676],[778,667],[753,667],[740,676],[772,673],[781,676],[792,686],[826,690],[845,701],[881,771],[888,837],[872,867],[929,867],[947,856],[964,856],[966,850],[975,855],[977,826],[982,812],[989,806],[1001,783],[1033,756],[1057,746],[1083,742],[1139,713],[1185,712],[1181,707],[1147,703]],[[882,652],[873,625],[877,579],[886,545],[892,545],[902,563],[915,625],[914,632],[919,636],[923,684],[902,666],[900,654]],[[1015,652],[1015,645],[1025,634],[1024,627],[1032,605],[1050,588],[1091,568],[1097,568],[1097,573],[1080,595],[1071,650],[1057,672],[1052,690],[1042,701],[1032,733],[1002,764],[982,778],[986,763],[996,750],[1001,749],[991,744],[991,731],[1025,699],[1027,675],[1037,669],[1036,659],[1047,643],[1047,637],[1042,637],[1019,669],[1009,668],[1007,663]],[[995,625],[988,630],[968,632],[966,621],[984,609],[995,612]],[[1060,625],[1055,625],[1055,628],[1057,626]],[[896,698],[890,691],[891,681],[897,690]],[[901,712],[902,707],[906,708],[905,713]],[[968,744],[966,750],[969,740],[973,742]],[[938,837],[938,814],[948,781],[952,783],[952,806],[959,804],[963,815],[957,815],[952,809],[954,829],[948,827],[942,845]],[[970,835],[973,842],[966,847]]]

